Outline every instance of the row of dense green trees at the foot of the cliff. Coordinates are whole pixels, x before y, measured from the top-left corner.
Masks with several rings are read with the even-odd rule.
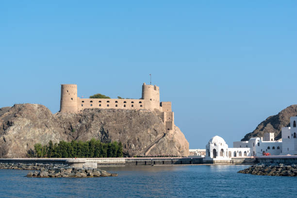
[[[28,155],[37,158],[123,157],[123,146],[121,142],[101,143],[95,139],[86,142],[60,141],[55,144],[50,140],[47,145],[35,144],[34,151],[28,152]]]

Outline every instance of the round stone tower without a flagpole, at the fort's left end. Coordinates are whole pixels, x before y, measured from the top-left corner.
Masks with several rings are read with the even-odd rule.
[[[77,85],[61,84],[60,112],[76,113],[77,111]]]

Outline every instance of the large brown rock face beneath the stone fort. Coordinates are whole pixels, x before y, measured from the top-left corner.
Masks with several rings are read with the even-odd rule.
[[[148,110],[85,109],[51,114],[38,104],[0,109],[0,157],[26,157],[34,144],[61,140],[120,141],[124,155],[187,156],[189,143],[178,127],[166,132],[162,119]]]

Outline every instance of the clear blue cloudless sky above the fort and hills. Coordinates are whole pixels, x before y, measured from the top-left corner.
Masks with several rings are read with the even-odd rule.
[[[1,1],[0,106],[160,86],[190,148],[297,103],[297,1]]]

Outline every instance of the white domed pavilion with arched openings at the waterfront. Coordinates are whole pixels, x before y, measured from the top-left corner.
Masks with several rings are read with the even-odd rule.
[[[220,136],[215,135],[206,145],[206,155],[204,161],[225,161],[231,160],[228,157],[228,145]]]

